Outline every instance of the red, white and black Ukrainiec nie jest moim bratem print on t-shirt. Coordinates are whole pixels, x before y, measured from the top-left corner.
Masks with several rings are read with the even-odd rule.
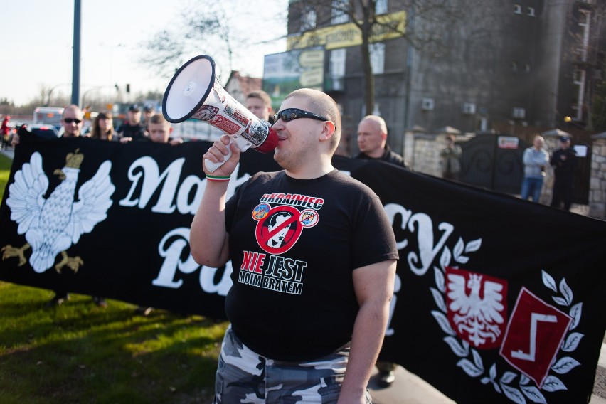
[[[252,210],[255,238],[265,251],[244,251],[238,282],[275,292],[302,294],[307,262],[285,257],[306,228],[318,224],[321,198],[284,193],[265,194]],[[276,206],[272,207],[272,204]]]

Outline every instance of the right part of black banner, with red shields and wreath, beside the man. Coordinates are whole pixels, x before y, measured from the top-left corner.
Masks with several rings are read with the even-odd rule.
[[[350,164],[351,165],[351,164]],[[585,403],[606,317],[606,223],[386,164],[400,261],[381,356],[457,403]]]

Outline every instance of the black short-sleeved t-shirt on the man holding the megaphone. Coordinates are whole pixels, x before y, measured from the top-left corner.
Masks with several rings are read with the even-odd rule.
[[[245,345],[276,360],[312,360],[351,341],[353,270],[398,258],[378,196],[338,170],[256,174],[228,201],[225,222],[225,312]]]

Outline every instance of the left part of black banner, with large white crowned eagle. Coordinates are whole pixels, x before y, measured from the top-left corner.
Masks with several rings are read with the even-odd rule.
[[[230,265],[201,267],[188,248],[209,146],[24,140],[0,210],[0,245],[11,246],[3,251],[0,279],[224,318]],[[64,169],[75,153],[78,168]],[[280,168],[260,153],[243,154],[230,192],[257,166]],[[100,208],[87,208],[92,203]],[[27,262],[11,257],[26,243]],[[68,263],[59,267],[63,251]],[[50,258],[38,260],[41,254]]]

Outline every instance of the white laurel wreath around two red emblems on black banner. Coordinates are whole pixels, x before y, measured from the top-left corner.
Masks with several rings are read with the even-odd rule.
[[[464,243],[462,238],[459,238],[454,249],[450,252],[450,249],[445,247],[440,256],[440,267],[434,266],[435,276],[435,287],[430,287],[433,299],[439,310],[432,310],[431,314],[437,321],[442,331],[447,334],[444,337],[445,343],[450,347],[452,352],[460,359],[457,362],[457,366],[467,373],[472,378],[477,378],[484,375],[486,368],[482,356],[479,352],[469,345],[469,342],[459,339],[457,333],[452,329],[447,319],[447,307],[444,299],[446,292],[446,281],[445,272],[446,267],[457,268],[458,264],[465,264],[469,261],[467,254],[479,250],[482,245],[482,239],[472,240],[469,243]],[[450,265],[451,261],[457,263],[457,265]],[[548,274],[545,270],[541,270],[543,285],[555,292],[551,298],[555,304],[561,307],[569,307],[568,314],[572,317],[573,321],[568,329],[568,335],[565,338],[564,343],[560,347],[560,352],[563,352],[563,356],[558,358],[555,363],[551,366],[551,371],[558,374],[568,373],[570,370],[580,365],[580,363],[570,356],[568,353],[575,351],[583,334],[573,331],[579,324],[581,314],[583,311],[583,302],[573,304],[573,290],[570,289],[566,283],[565,278],[562,278],[558,284],[555,282],[553,277]],[[558,354],[560,353],[558,352]],[[519,377],[518,377],[519,376]],[[516,378],[519,379],[517,386],[514,384]],[[546,377],[541,390],[535,385],[531,384],[531,379],[525,376],[523,373],[516,373],[512,371],[506,371],[502,375],[499,375],[499,371],[496,368],[496,363],[492,363],[489,368],[488,374],[480,379],[480,383],[488,384],[491,383],[494,390],[497,393],[506,395],[509,400],[518,404],[526,404],[526,398],[533,403],[547,404],[547,400],[541,390],[547,392],[554,392],[557,390],[567,390],[565,384],[553,374]]]

